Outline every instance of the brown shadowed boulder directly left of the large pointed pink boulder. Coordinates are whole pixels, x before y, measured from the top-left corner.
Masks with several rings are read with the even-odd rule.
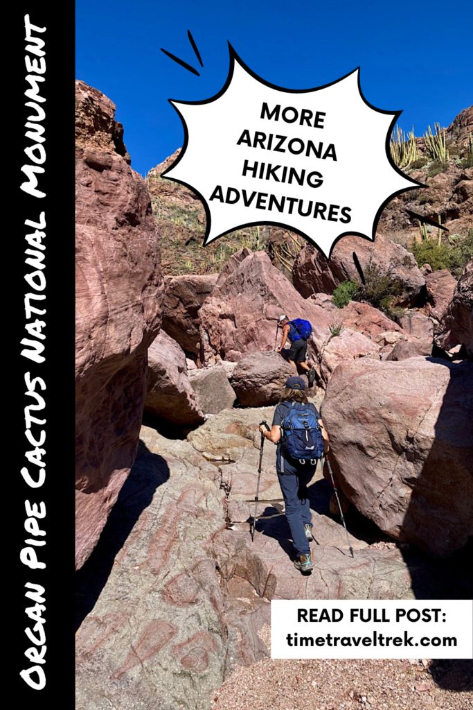
[[[162,302],[162,329],[176,340],[182,349],[199,355],[199,308],[212,293],[218,274],[185,274],[165,278]]]

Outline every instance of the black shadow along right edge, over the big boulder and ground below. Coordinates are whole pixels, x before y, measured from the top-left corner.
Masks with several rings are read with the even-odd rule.
[[[471,536],[468,538],[467,533],[471,532],[473,523],[473,367],[468,363],[429,360],[450,368],[452,372],[434,425],[433,446],[420,476],[412,481],[413,492],[403,528],[409,531],[411,539],[418,531],[422,547],[425,547],[424,531],[434,530],[430,550],[435,557],[447,558],[434,561],[431,565],[438,570],[438,577],[430,582],[430,599],[471,599],[473,539]],[[442,504],[437,505],[438,501]],[[411,563],[413,555],[410,546],[401,546],[401,551],[411,572],[413,590],[422,589],[425,586],[421,579],[425,574],[425,565]],[[416,555],[419,558],[423,556],[423,553]],[[418,599],[426,598],[417,592],[416,596]]]

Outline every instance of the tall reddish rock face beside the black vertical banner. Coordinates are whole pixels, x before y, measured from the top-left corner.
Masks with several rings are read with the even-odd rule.
[[[76,565],[130,472],[160,328],[159,238],[115,105],[76,82]]]

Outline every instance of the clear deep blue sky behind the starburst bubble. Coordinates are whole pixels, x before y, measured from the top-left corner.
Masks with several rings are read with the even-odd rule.
[[[404,109],[399,124],[413,125],[416,135],[435,121],[448,126],[473,103],[470,2],[455,12],[438,0],[77,0],[76,7],[76,77],[116,104],[132,166],[142,174],[182,146],[182,124],[167,99],[207,99],[225,83],[227,40],[254,72],[290,89],[327,84],[360,66],[366,99]]]

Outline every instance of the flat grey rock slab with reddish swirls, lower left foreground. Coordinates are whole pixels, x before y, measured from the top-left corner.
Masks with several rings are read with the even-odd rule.
[[[140,438],[123,496],[80,572],[77,706],[102,710],[107,697],[141,710],[160,698],[163,709],[207,710],[227,656],[239,660],[206,549],[225,525],[218,469],[187,442],[149,427]],[[256,649],[253,662],[260,657]]]

